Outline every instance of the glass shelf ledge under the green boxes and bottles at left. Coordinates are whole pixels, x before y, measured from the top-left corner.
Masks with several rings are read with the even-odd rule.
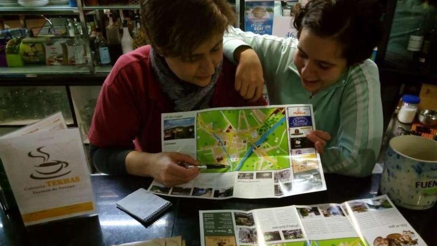
[[[24,67],[0,68],[0,77],[7,75],[66,75],[90,74],[86,66],[26,65]]]

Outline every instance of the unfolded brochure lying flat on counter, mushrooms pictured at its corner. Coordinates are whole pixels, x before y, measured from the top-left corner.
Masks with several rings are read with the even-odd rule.
[[[387,195],[342,204],[199,211],[202,246],[427,246]]]

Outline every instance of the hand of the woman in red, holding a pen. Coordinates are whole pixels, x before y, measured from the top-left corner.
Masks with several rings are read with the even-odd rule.
[[[133,151],[126,157],[126,170],[132,175],[151,176],[167,187],[187,183],[199,174],[199,168],[185,168],[178,162],[198,165],[192,157],[177,152]]]

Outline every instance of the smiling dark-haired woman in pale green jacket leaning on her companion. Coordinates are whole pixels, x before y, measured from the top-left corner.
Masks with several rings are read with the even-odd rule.
[[[313,105],[307,134],[325,172],[367,176],[382,139],[378,68],[368,58],[382,36],[375,0],[310,0],[297,5],[297,39],[229,28],[225,56],[236,84],[266,82],[270,104]]]

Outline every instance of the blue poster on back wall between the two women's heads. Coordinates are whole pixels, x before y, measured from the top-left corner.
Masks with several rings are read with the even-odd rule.
[[[272,35],[274,1],[245,2],[245,31]]]

